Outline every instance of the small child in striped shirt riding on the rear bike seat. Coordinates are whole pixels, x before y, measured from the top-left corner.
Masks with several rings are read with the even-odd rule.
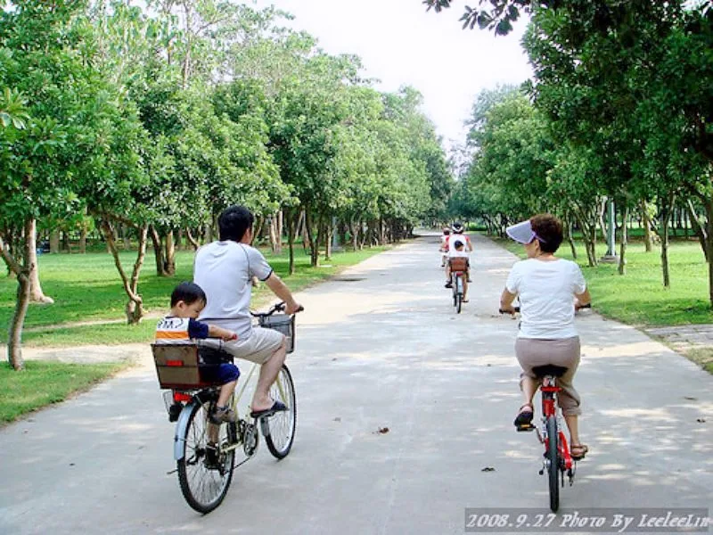
[[[195,339],[221,338],[225,341],[237,340],[233,331],[217,325],[208,325],[195,318],[206,306],[206,294],[201,286],[194,283],[181,283],[171,293],[171,310],[156,325],[157,344],[193,343]],[[209,418],[213,424],[235,422],[235,411],[228,407],[228,400],[235,391],[240,370],[233,363],[223,362],[216,366],[201,366],[201,378],[209,383],[220,384],[215,412]]]

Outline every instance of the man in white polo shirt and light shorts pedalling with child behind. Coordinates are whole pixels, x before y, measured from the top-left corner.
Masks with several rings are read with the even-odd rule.
[[[261,364],[258,386],[250,405],[252,416],[269,416],[285,410],[268,391],[275,383],[285,358],[285,337],[274,329],[252,326],[250,317],[251,279],[257,276],[285,302],[285,312],[300,309],[290,289],[275,275],[260,251],[250,246],[255,218],[244,206],[231,206],[217,220],[219,241],[203,245],[195,255],[193,282],[208,297],[200,321],[237,333],[234,342],[223,342],[221,349],[234,357]],[[211,342],[204,342],[210,346]]]

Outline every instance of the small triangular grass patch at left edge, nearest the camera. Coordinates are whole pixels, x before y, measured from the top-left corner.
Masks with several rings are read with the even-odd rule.
[[[128,366],[128,362],[64,364],[29,360],[25,370],[16,372],[7,362],[0,363],[0,426],[86,391]]]

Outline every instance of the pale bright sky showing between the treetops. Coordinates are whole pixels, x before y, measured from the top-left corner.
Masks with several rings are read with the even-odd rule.
[[[414,86],[422,111],[447,147],[463,144],[463,121],[482,89],[520,84],[532,76],[520,46],[525,21],[506,37],[485,29],[461,29],[464,4],[426,12],[421,0],[256,0],[295,15],[294,29],[316,37],[327,53],[355,53],[366,77],[381,91]]]

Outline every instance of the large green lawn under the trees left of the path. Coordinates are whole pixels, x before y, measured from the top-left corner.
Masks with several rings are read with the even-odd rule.
[[[356,252],[332,255],[324,266],[312,268],[301,247],[295,250],[296,272],[287,276],[289,259],[286,248],[275,256],[264,251],[275,272],[283,277],[292,291],[322,281],[342,268],[356,264],[385,248],[374,247]],[[121,253],[125,270],[130,270],[135,253]],[[53,298],[51,305],[30,305],[25,320],[23,343],[27,346],[66,346],[94,343],[147,342],[152,339],[155,323],[146,320],[141,325],[124,325],[127,295],[119,279],[111,255],[104,252],[86,254],[45,254],[38,259],[40,280],[45,295]],[[148,314],[159,315],[168,310],[168,300],[176,284],[193,278],[193,251],[176,254],[176,276],[156,275],[152,253],[147,253],[143,265],[139,292]],[[9,325],[14,311],[17,282],[0,277],[0,325]],[[254,305],[266,302],[272,293],[263,284],[253,292]],[[72,325],[78,322],[116,322],[102,325]],[[64,325],[64,326],[62,326]],[[7,342],[7,329],[0,330],[0,342]]]

